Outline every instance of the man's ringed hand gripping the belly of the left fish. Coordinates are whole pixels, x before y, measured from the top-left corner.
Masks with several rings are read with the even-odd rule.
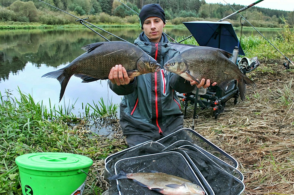
[[[129,78],[126,69],[121,64],[118,64],[112,67],[109,72],[108,79],[111,81],[111,83],[119,86],[129,84],[134,80],[134,77]]]

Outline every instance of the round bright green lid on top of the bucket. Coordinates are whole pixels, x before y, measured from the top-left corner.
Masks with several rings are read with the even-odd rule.
[[[93,160],[72,153],[42,152],[18,156],[15,163],[20,167],[31,170],[68,171],[90,167]]]

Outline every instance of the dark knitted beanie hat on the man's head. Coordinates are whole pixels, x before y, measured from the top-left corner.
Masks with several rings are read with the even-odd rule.
[[[158,17],[163,21],[163,23],[166,23],[165,14],[161,6],[159,4],[147,4],[142,7],[139,14],[140,25],[142,29],[144,21],[152,16]]]

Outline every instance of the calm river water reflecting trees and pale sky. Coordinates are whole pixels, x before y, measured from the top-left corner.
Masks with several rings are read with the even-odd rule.
[[[138,28],[105,28],[105,30],[133,42],[141,33]],[[111,41],[118,40],[97,30]],[[185,27],[164,28],[171,37],[189,36]],[[257,34],[253,30],[244,30],[243,35]],[[265,37],[277,35],[277,31],[261,31]],[[240,33],[240,29],[236,30]],[[41,78],[42,75],[67,66],[84,51],[84,45],[105,41],[87,28],[63,30],[2,30],[0,31],[0,92],[5,95],[9,90],[11,97],[19,98],[18,88],[22,93],[31,94],[35,102],[43,105],[63,106],[74,104],[72,113],[79,115],[87,103],[98,104],[103,98],[105,104],[119,104],[122,96],[113,93],[107,81],[81,83],[81,79],[71,77],[59,103],[60,84],[54,78]],[[83,105],[83,106],[82,106]],[[99,104],[98,104],[99,105]]]

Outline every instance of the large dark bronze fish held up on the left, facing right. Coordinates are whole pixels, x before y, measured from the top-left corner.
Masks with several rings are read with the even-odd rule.
[[[116,64],[123,64],[130,78],[160,70],[160,64],[155,59],[128,42],[98,42],[86,45],[82,49],[86,53],[74,59],[68,66],[42,76],[56,78],[59,81],[59,101],[73,75],[83,79],[82,82],[108,79],[111,68]]]

